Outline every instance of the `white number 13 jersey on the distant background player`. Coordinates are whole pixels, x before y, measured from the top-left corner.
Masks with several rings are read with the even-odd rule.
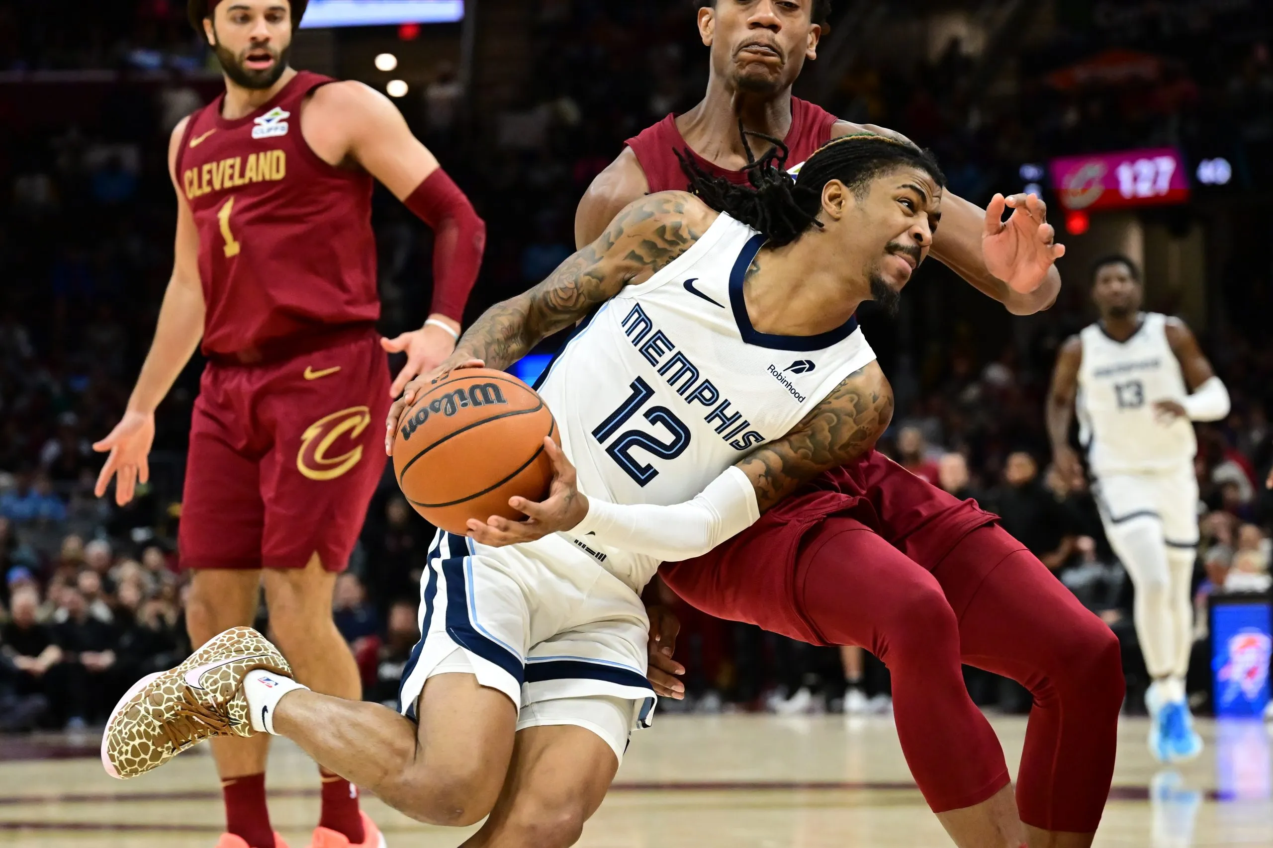
[[[1165,424],[1153,414],[1155,401],[1183,401],[1189,393],[1166,323],[1166,316],[1146,312],[1127,341],[1115,341],[1099,323],[1080,332],[1078,438],[1097,476],[1172,469],[1198,449],[1188,419]]]

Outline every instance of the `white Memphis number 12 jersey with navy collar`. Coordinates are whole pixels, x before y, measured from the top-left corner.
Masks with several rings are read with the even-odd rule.
[[[690,500],[875,360],[853,318],[815,336],[752,329],[742,284],[763,242],[722,214],[685,253],[602,304],[549,365],[537,388],[584,494]],[[658,568],[653,556],[570,540],[638,592]]]

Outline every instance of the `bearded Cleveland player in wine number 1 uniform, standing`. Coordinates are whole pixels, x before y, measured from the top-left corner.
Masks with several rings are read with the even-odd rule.
[[[191,0],[225,93],[172,134],[176,264],[127,411],[109,451],[127,503],[148,476],[154,409],[195,346],[209,363],[190,430],[178,544],[193,569],[193,646],[251,624],[264,582],[270,626],[309,686],[359,698],[331,619],[383,470],[391,397],[454,348],[485,225],[379,93],[288,66],[304,0]],[[373,178],[435,232],[433,311],[397,339],[376,332]],[[386,351],[405,353],[390,381]],[[372,427],[369,427],[369,424]],[[227,833],[219,848],[283,848],[265,802],[267,740],[216,740]],[[322,774],[313,845],[383,845],[356,789]]]

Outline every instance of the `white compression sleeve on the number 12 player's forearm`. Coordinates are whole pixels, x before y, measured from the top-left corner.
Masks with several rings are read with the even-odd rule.
[[[670,507],[588,498],[588,514],[569,532],[579,539],[593,534],[602,545],[677,562],[708,553],[757,518],[755,486],[741,469],[729,466],[693,500]]]

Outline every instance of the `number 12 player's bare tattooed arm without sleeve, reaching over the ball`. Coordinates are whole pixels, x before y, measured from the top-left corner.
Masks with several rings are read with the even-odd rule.
[[[684,191],[629,204],[601,236],[566,258],[530,292],[486,309],[437,369],[416,377],[390,407],[384,451],[415,396],[456,368],[504,369],[544,339],[583,318],[625,285],[644,283],[698,241],[719,213]]]

